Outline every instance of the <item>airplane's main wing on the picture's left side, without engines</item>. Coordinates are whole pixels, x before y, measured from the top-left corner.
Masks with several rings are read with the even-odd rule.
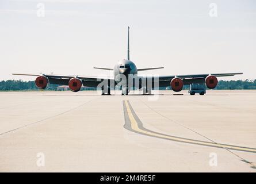
[[[41,74],[13,74],[13,75],[26,75],[26,76],[40,76]],[[113,78],[108,77],[95,77],[95,76],[77,76],[77,75],[44,75],[48,78],[48,81],[50,84],[54,85],[68,85],[68,82],[71,78],[77,77],[81,79],[83,86],[86,87],[97,87],[101,81],[104,81],[105,79],[114,82]]]

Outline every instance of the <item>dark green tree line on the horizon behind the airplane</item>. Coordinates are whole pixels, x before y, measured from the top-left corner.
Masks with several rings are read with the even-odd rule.
[[[60,85],[49,84],[45,90],[58,90]],[[170,87],[161,88],[162,90],[170,89]],[[188,89],[188,86],[184,86],[184,89]],[[256,89],[255,80],[238,80],[238,81],[219,81],[216,90],[248,90]],[[34,81],[22,81],[22,80],[7,80],[0,81],[0,91],[34,91],[37,89]],[[83,89],[82,89],[83,90]]]

